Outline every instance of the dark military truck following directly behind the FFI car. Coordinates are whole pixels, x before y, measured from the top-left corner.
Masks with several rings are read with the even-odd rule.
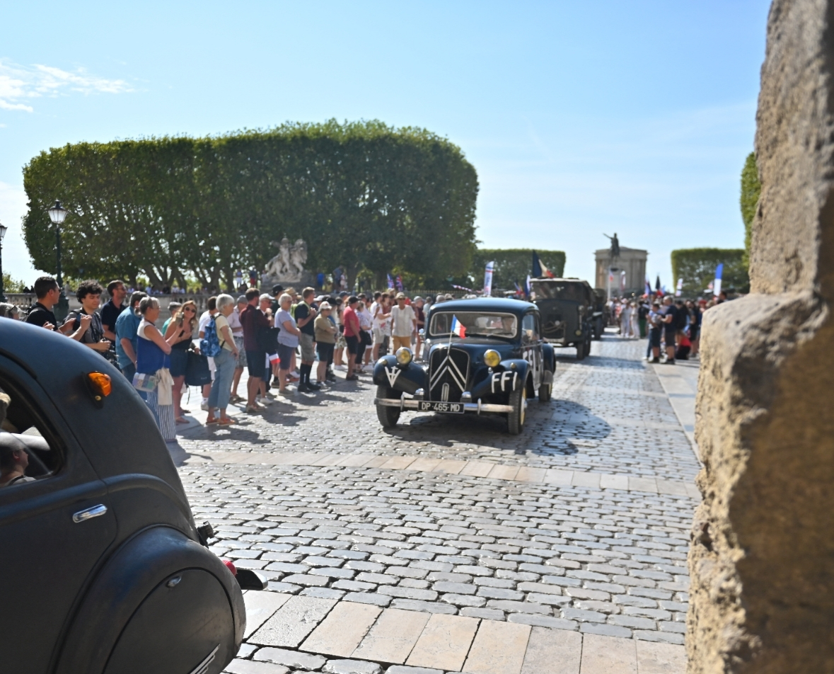
[[[596,298],[588,281],[535,278],[530,279],[530,290],[541,312],[545,340],[559,347],[576,347],[577,359],[585,358],[590,353],[596,317]]]

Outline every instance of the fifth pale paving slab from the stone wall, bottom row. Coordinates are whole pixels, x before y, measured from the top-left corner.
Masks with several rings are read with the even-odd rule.
[[[431,616],[406,664],[460,671],[479,622],[465,616]]]

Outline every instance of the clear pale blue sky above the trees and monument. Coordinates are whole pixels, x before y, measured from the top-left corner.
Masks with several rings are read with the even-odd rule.
[[[567,252],[592,280],[614,231],[650,252],[741,247],[768,3],[4,3],[3,270],[22,167],[80,140],[382,119],[460,145],[484,246]],[[309,242],[311,246],[314,241]]]

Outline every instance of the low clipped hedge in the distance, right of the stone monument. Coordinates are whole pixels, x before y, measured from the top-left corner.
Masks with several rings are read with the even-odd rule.
[[[741,248],[682,248],[672,251],[672,277],[683,279],[683,295],[702,295],[716,277],[716,266],[724,263],[721,286],[725,290],[750,291],[745,251]]]

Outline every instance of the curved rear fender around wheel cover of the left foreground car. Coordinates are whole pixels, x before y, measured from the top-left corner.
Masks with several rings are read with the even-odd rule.
[[[73,617],[56,674],[104,671],[119,636],[144,599],[169,576],[187,569],[208,571],[223,586],[234,619],[234,644],[229,644],[234,654],[246,627],[244,598],[234,575],[217,555],[182,532],[154,526],[126,541],[93,580]],[[168,628],[159,625],[161,631]],[[153,635],[148,635],[148,647],[153,647]]]

